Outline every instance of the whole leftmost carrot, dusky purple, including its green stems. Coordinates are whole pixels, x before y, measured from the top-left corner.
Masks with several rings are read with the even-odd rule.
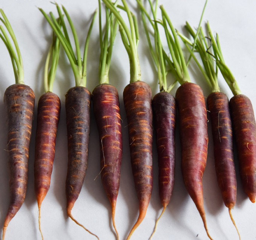
[[[3,102],[7,115],[7,146],[10,204],[3,226],[3,240],[5,239],[6,228],[24,202],[27,188],[29,143],[32,132],[32,122],[34,117],[35,94],[33,90],[24,84],[23,62],[17,39],[15,38],[11,24],[5,13],[0,9],[3,18],[0,20],[5,25],[14,42],[15,49],[0,25],[0,38],[5,43],[12,60],[15,75],[15,84],[5,91]]]

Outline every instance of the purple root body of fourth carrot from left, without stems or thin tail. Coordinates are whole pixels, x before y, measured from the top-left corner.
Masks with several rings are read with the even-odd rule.
[[[112,85],[100,84],[94,88],[92,100],[101,149],[101,181],[112,204],[117,199],[122,161],[119,96]]]

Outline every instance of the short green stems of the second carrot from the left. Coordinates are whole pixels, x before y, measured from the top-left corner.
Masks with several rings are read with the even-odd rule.
[[[58,23],[61,24],[60,19],[58,19]],[[52,92],[53,81],[55,79],[56,70],[57,70],[58,61],[59,61],[59,47],[60,47],[59,39],[53,32],[52,44],[47,54],[46,63],[44,67],[44,91],[46,93]],[[51,59],[51,66],[49,69],[50,59]]]

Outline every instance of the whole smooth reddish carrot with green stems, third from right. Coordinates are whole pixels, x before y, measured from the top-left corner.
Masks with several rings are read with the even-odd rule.
[[[204,5],[204,9],[205,6],[206,4]],[[187,65],[178,42],[176,31],[163,6],[160,6],[160,9],[162,11],[163,27],[172,61],[166,54],[164,54],[164,57],[171,70],[173,70],[174,76],[181,84],[175,94],[180,122],[181,172],[186,189],[203,220],[206,233],[212,239],[207,228],[203,204],[202,177],[206,167],[208,145],[207,114],[204,95],[199,85],[190,82]],[[173,38],[168,26],[171,29]]]

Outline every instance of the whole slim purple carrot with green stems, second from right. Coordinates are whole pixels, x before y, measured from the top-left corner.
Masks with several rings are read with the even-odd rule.
[[[195,32],[189,23],[186,23],[186,29],[195,39]],[[195,62],[203,73],[206,82],[212,88],[212,93],[207,97],[207,106],[210,112],[210,120],[212,124],[212,136],[214,146],[215,170],[219,189],[221,190],[222,199],[227,208],[229,208],[230,218],[238,232],[235,221],[232,217],[231,210],[236,204],[236,173],[233,156],[233,140],[232,140],[232,123],[229,111],[229,99],[226,94],[221,93],[218,85],[218,66],[207,53],[209,46],[205,41],[203,29],[200,27],[199,38],[196,41],[195,49],[199,52],[203,67],[198,62],[188,44],[192,43],[178,32],[183,39],[190,55],[193,56]]]

